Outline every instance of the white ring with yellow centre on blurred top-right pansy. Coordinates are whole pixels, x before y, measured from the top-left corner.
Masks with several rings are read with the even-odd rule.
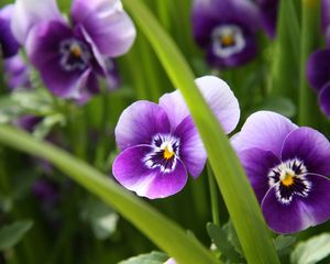
[[[220,25],[212,32],[213,52],[219,57],[230,57],[245,47],[242,30],[237,25]]]

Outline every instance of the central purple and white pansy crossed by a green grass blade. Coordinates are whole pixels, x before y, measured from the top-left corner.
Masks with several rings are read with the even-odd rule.
[[[196,79],[205,99],[227,133],[238,124],[239,103],[229,86],[207,76]],[[116,140],[121,153],[112,173],[125,188],[150,199],[172,196],[197,178],[207,154],[182,94],[160,98],[158,105],[138,101],[121,114]]]

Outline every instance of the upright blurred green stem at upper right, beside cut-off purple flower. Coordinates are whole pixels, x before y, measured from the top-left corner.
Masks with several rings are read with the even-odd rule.
[[[301,1],[301,64],[300,64],[300,87],[299,87],[299,116],[300,125],[317,127],[320,117],[317,95],[308,85],[306,78],[306,62],[311,52],[316,50],[320,35],[320,0]]]

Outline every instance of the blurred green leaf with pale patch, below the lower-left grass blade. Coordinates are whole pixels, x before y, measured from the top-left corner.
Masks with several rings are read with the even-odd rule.
[[[81,218],[91,224],[96,238],[99,240],[110,238],[119,220],[113,209],[96,199],[89,199],[82,206]]]

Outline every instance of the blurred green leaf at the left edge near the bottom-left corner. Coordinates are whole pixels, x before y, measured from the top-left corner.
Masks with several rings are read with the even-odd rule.
[[[21,241],[32,228],[31,220],[16,221],[0,229],[0,251],[8,250]]]

